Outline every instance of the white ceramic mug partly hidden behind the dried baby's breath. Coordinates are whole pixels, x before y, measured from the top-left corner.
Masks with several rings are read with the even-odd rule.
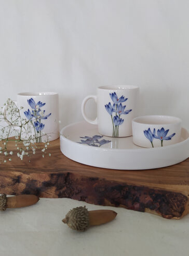
[[[18,93],[17,100],[14,102],[19,109],[21,108],[21,118],[31,121],[31,135],[37,137],[36,142],[59,138],[58,93]],[[4,113],[6,115],[6,108]],[[47,136],[43,134],[47,134]]]

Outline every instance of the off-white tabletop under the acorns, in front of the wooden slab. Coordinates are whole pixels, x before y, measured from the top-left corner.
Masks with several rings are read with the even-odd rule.
[[[112,209],[110,223],[79,233],[62,223],[72,208]],[[72,199],[41,198],[37,204],[0,212],[1,256],[189,255],[189,214],[182,220],[102,207]]]

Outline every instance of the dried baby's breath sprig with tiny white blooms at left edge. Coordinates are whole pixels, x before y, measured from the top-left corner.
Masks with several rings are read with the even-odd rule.
[[[30,161],[32,155],[35,155],[38,148],[37,143],[41,143],[42,139],[45,143],[42,150],[42,157],[46,154],[49,145],[49,136],[41,132],[44,127],[41,123],[41,118],[45,111],[38,109],[38,111],[40,110],[39,113],[41,113],[41,116],[34,116],[33,114],[31,119],[26,119],[21,117],[20,111],[22,109],[22,106],[20,108],[17,107],[15,102],[9,98],[0,110],[0,155],[4,156],[4,163],[11,161],[13,154],[16,154],[21,160],[24,157],[28,157]],[[33,109],[32,111],[36,114],[38,113],[37,109]],[[27,111],[25,112],[28,114]],[[42,129],[39,131],[40,127]],[[8,150],[8,144],[10,142],[15,143],[15,150],[13,151]]]

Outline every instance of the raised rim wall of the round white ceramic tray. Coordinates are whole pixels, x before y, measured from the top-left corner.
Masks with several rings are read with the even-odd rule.
[[[76,138],[71,140],[65,137],[74,134],[75,130],[71,132],[69,130],[71,126],[80,125],[77,127],[79,130],[86,123],[86,121],[81,121],[69,124],[61,130],[60,134],[60,150],[63,155],[82,164],[113,170],[152,170],[178,164],[189,157],[189,133],[184,128],[183,141],[158,148],[142,148],[139,146],[138,148],[125,149],[90,147],[77,143]],[[85,131],[90,130],[90,128],[91,130],[92,128],[97,129],[97,125],[94,126],[88,124]],[[99,134],[98,131],[97,134]],[[79,136],[78,132],[76,135]]]

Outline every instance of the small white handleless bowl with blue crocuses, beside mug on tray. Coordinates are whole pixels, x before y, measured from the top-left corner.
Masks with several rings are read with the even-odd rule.
[[[142,116],[132,120],[133,143],[144,148],[180,142],[181,119],[170,116]]]

